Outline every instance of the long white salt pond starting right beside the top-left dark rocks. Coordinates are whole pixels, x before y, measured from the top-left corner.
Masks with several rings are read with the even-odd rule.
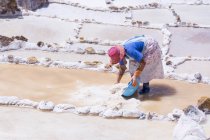
[[[74,11],[74,12],[72,12]],[[65,4],[52,3],[46,8],[38,9],[35,14],[59,17],[70,20],[85,20],[90,19],[92,21],[102,22],[102,23],[112,23],[112,24],[125,24],[126,13],[116,13],[116,12],[101,12],[92,11],[77,8]]]

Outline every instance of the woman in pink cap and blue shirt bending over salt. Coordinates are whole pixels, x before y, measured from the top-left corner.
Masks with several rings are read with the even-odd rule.
[[[133,86],[137,82],[143,83],[143,88],[139,94],[146,94],[150,92],[149,81],[152,79],[162,79],[164,76],[161,49],[153,38],[148,36],[135,36],[122,46],[113,46],[109,49],[108,55],[111,58],[111,67],[113,64],[119,63],[119,73],[117,83],[120,82],[125,70],[126,59],[129,60],[129,72]]]

